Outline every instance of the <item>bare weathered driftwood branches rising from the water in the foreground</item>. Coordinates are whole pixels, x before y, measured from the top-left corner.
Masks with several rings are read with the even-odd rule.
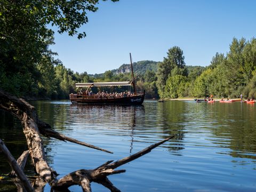
[[[34,170],[36,174],[38,174],[39,177],[43,179],[45,182],[49,183],[49,185],[54,190],[68,191],[68,187],[73,185],[80,185],[83,191],[91,191],[90,183],[97,182],[105,186],[106,188],[108,188],[110,191],[120,191],[113,185],[113,183],[109,181],[107,176],[111,174],[118,174],[118,173],[125,172],[125,170],[115,170],[115,169],[123,164],[129,163],[134,159],[141,157],[142,155],[149,153],[152,149],[156,148],[157,146],[161,145],[162,143],[174,137],[173,136],[173,137],[166,138],[161,142],[155,143],[154,145],[151,145],[139,151],[136,154],[119,159],[116,162],[108,161],[105,164],[102,164],[93,170],[84,170],[84,169],[77,170],[65,175],[65,177],[61,179],[57,179],[57,175],[58,175],[57,172],[55,172],[46,162],[41,134],[44,135],[45,137],[55,138],[62,141],[74,142],[79,145],[102,150],[107,153],[112,153],[112,152],[106,149],[101,149],[99,147],[92,146],[82,141],[78,141],[73,138],[66,137],[63,134],[60,134],[52,130],[49,124],[41,121],[38,118],[35,107],[31,106],[25,100],[14,97],[13,95],[1,89],[0,89],[0,109],[9,111],[11,114],[13,114],[14,116],[20,119],[23,127],[23,133],[25,134],[25,137],[27,140],[29,155],[31,157],[31,160],[34,166]],[[2,140],[0,140],[0,144],[1,144],[0,146],[5,147],[5,148],[1,147],[0,152],[2,150],[2,153],[3,153],[3,149],[9,151],[4,145]],[[12,157],[11,153],[9,154],[4,153],[4,154],[7,158],[7,161],[9,161],[11,165],[16,165],[15,168],[13,166],[12,168],[15,171],[15,173],[18,175],[18,178],[20,178],[22,184],[25,186],[27,191],[34,191],[34,189],[31,188],[30,183],[28,182],[25,174],[22,171],[23,168],[18,169],[17,168],[18,163],[15,161],[15,159],[14,158],[9,159],[9,157]],[[23,156],[20,157],[19,164],[21,167],[25,165],[26,158],[27,158],[27,152],[25,152],[25,154],[23,154]],[[23,173],[23,176],[20,176],[22,175],[22,173]],[[10,176],[11,175],[14,176],[15,175],[14,172],[12,172]],[[23,177],[25,177],[25,179],[23,179]]]

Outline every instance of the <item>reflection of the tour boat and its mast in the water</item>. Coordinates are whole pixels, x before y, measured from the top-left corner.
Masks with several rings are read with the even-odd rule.
[[[130,131],[127,135],[131,138],[130,143],[130,155],[132,154],[134,130],[139,124],[143,125],[145,122],[145,107],[142,106],[92,106],[92,105],[71,105],[70,115],[76,116],[76,122],[81,123],[87,119],[86,123],[95,125],[97,123],[102,124],[102,119],[110,120],[110,129],[122,129]],[[138,120],[137,120],[138,118]],[[118,125],[116,124],[118,123]],[[106,128],[106,122],[102,125]]]

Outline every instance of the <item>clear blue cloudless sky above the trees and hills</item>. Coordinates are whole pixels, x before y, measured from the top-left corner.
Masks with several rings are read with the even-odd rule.
[[[227,53],[233,37],[256,37],[254,0],[120,0],[100,2],[78,40],[55,33],[58,58],[66,68],[104,73],[124,63],[163,61],[172,46],[186,65],[208,66],[216,52]]]

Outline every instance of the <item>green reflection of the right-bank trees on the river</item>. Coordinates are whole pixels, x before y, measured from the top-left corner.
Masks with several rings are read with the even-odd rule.
[[[221,154],[255,159],[254,106],[241,102],[196,104],[188,103],[185,122],[189,132],[204,136],[205,143],[197,145],[226,148],[230,150],[222,151]]]

